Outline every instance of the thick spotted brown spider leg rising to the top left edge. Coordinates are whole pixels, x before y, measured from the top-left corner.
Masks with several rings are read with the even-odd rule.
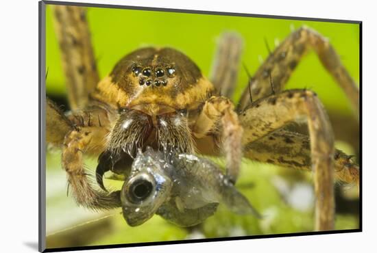
[[[71,109],[84,108],[99,81],[84,8],[53,5],[53,20],[60,44],[62,66]]]

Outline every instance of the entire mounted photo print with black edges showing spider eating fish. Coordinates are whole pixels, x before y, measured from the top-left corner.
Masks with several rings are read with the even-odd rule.
[[[360,42],[360,21],[41,1],[40,251],[361,231]]]

